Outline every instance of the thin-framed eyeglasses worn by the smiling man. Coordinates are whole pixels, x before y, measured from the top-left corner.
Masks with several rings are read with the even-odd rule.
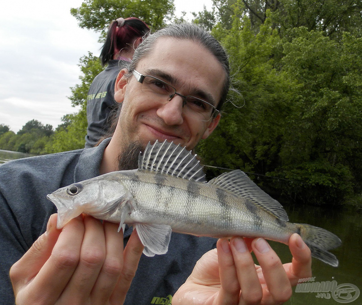
[[[175,95],[181,96],[183,98],[182,108],[184,108],[185,115],[197,117],[207,122],[211,118],[215,118],[220,112],[215,106],[202,99],[190,95],[183,96],[176,92],[173,86],[163,80],[151,75],[142,75],[136,70],[133,70],[132,73],[136,77],[136,80],[142,84],[141,90],[157,101],[168,103]]]

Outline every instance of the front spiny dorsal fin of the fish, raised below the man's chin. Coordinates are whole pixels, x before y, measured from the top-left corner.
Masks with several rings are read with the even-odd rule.
[[[144,153],[138,157],[138,168],[160,174],[206,183],[200,161],[185,147],[167,142],[147,144]]]

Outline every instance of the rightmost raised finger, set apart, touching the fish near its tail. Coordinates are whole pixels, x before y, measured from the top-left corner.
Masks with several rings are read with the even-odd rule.
[[[292,234],[289,238],[289,249],[293,258],[289,268],[290,272],[287,274],[290,283],[295,286],[298,279],[312,276],[312,256],[311,250],[297,233]]]

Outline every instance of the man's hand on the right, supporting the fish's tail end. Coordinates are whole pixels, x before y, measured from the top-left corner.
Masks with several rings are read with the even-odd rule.
[[[298,279],[312,275],[311,251],[298,234],[289,239],[293,258],[287,264],[263,238],[245,241],[241,237],[233,237],[230,243],[218,240],[217,249],[196,263],[172,304],[281,304],[289,300]],[[251,250],[260,266],[254,264]]]

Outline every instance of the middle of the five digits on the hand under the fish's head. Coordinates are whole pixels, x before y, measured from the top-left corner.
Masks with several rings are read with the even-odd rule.
[[[76,270],[62,293],[64,304],[80,304],[88,299],[106,257],[101,221],[84,215],[84,237]]]

